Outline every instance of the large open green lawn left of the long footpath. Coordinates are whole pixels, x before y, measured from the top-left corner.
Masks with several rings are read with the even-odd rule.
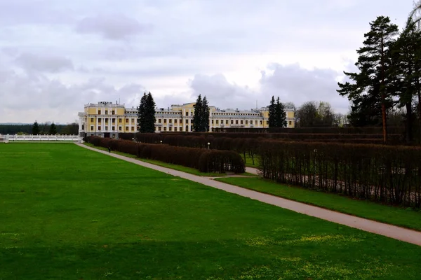
[[[0,279],[420,279],[419,246],[74,144],[0,170]]]

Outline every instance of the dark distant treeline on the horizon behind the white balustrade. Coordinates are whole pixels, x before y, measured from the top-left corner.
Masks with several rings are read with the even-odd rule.
[[[76,135],[79,134],[79,125],[55,125],[57,134]],[[39,134],[48,134],[50,124],[40,123]],[[0,125],[0,134],[32,134],[32,125]]]

